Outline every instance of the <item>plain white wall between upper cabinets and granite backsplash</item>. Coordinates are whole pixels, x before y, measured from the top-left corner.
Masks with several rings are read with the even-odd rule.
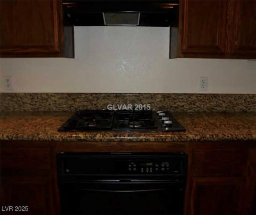
[[[256,61],[168,56],[169,28],[75,27],[75,59],[1,58],[1,92],[256,94]]]

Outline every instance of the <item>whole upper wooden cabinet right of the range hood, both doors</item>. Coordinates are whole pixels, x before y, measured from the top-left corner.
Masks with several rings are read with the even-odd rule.
[[[180,1],[178,56],[256,58],[256,1]]]

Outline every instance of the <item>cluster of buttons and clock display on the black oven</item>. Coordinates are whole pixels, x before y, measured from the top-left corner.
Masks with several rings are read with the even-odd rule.
[[[127,165],[129,173],[166,173],[166,174],[179,174],[181,172],[180,163],[173,163],[170,161],[160,162],[129,162]]]

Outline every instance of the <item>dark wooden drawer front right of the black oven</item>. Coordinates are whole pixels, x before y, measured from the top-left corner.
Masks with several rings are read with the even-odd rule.
[[[245,175],[247,156],[246,149],[194,149],[192,175],[194,177]]]

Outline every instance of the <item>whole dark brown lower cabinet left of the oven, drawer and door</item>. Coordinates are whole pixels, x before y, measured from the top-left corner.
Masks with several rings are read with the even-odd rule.
[[[2,143],[1,214],[58,214],[54,172],[48,143]]]

